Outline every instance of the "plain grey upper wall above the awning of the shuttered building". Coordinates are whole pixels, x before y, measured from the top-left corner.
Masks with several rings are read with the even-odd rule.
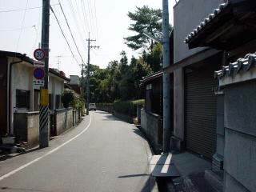
[[[180,0],[174,6],[174,63],[206,49],[189,50],[184,40],[222,2],[224,0]]]

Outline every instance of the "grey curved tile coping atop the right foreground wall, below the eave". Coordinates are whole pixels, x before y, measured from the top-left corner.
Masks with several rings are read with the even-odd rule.
[[[248,71],[256,67],[256,53],[246,54],[245,58],[238,58],[236,62],[230,63],[229,66],[222,66],[222,70],[214,72],[214,78],[221,79],[224,76],[238,74],[240,71]]]

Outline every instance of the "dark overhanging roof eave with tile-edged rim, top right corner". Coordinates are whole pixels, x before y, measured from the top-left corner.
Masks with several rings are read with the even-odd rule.
[[[217,50],[233,50],[256,38],[255,10],[254,0],[230,0],[222,3],[184,42],[190,49],[209,46]]]

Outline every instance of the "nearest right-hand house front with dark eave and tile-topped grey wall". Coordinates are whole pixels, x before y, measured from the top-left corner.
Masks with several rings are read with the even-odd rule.
[[[255,1],[226,1],[185,39],[190,49],[209,46],[222,51],[222,66],[214,73],[220,102],[213,170],[218,168],[215,162],[222,162],[224,191],[256,190],[255,10]]]

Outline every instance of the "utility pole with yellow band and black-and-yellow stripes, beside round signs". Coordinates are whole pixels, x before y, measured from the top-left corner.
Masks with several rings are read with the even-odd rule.
[[[49,129],[48,129],[48,80],[49,80],[49,28],[50,28],[50,0],[42,0],[42,50],[46,53],[45,58],[45,78],[44,87],[41,88],[40,104],[40,130],[39,146],[40,148],[49,146]],[[44,102],[42,102],[44,101]]]

